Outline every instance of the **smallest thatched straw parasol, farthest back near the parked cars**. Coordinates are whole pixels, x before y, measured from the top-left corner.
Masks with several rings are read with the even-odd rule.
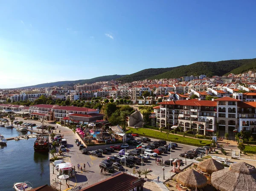
[[[224,165],[213,158],[199,162],[198,167],[209,174],[224,169]]]

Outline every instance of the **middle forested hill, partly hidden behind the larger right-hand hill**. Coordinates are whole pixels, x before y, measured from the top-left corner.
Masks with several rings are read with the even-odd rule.
[[[151,78],[157,74],[163,74],[166,71],[172,71],[175,68],[180,68],[180,67],[182,67],[182,66],[177,66],[177,67],[172,67],[172,68],[149,68],[149,69],[138,71],[134,74],[126,75],[126,76],[118,78],[116,80],[120,80],[122,82],[145,80],[145,79]]]

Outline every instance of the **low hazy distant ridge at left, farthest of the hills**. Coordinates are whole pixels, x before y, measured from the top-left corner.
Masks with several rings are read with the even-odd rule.
[[[109,75],[109,76],[101,76],[101,77],[95,77],[92,79],[87,80],[75,80],[75,81],[59,81],[59,82],[52,82],[52,83],[42,83],[34,86],[26,86],[21,88],[47,88],[52,86],[73,86],[75,84],[85,84],[85,83],[96,83],[96,82],[102,82],[102,81],[109,81],[109,80],[115,80],[116,78],[123,77],[124,75]]]

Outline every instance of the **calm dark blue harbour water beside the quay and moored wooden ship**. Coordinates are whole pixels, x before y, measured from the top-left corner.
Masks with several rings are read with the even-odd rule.
[[[0,134],[8,138],[26,132],[0,127]],[[7,146],[0,145],[0,191],[13,191],[14,182],[29,181],[33,188],[49,185],[49,156],[34,152],[35,139],[9,140]]]

